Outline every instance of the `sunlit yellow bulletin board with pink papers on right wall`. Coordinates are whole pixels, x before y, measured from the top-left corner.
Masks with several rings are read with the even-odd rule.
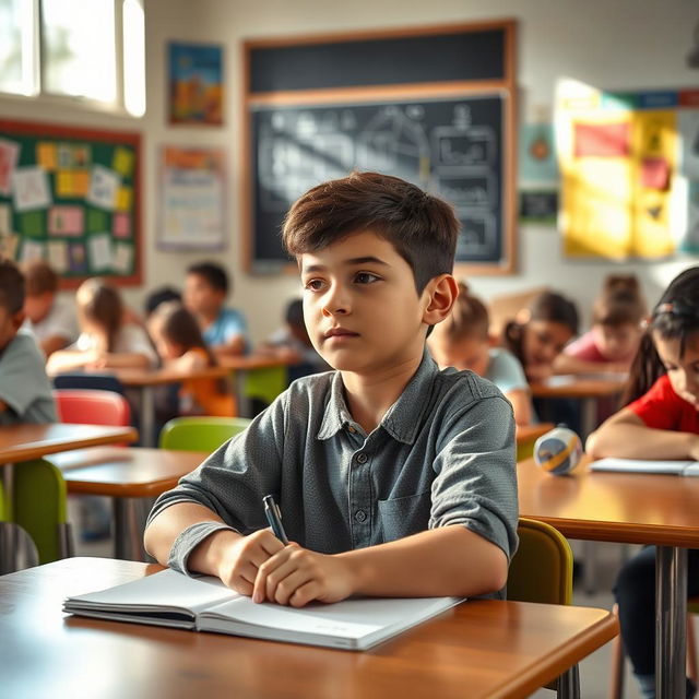
[[[699,91],[557,95],[566,254],[699,253]]]

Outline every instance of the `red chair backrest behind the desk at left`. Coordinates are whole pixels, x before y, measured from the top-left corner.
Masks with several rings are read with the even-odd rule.
[[[129,402],[114,391],[57,389],[54,391],[54,399],[62,423],[115,427],[131,424]]]

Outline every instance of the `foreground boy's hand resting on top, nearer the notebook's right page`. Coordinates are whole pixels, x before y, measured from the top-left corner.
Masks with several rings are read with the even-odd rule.
[[[293,607],[303,607],[313,600],[340,602],[354,592],[352,579],[342,557],[289,544],[259,566],[252,600]]]

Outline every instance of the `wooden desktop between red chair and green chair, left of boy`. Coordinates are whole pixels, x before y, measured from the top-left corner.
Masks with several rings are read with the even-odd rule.
[[[51,462],[62,471],[69,493],[147,498],[174,488],[208,455],[203,451],[97,447],[56,454]]]

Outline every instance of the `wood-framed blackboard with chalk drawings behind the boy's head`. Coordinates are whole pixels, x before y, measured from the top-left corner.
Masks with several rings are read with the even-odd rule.
[[[507,20],[247,42],[248,270],[288,265],[288,208],[358,169],[401,177],[454,206],[457,273],[511,273],[514,32]]]

